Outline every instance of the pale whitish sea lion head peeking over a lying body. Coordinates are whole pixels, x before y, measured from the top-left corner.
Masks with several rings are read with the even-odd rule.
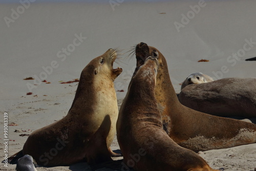
[[[201,83],[211,82],[211,81],[214,81],[214,79],[211,78],[210,76],[205,75],[201,72],[196,72],[188,75],[188,77],[183,81],[181,85],[181,90],[189,84],[201,84]]]

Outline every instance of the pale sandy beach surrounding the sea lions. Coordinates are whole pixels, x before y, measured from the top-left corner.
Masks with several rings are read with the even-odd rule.
[[[256,56],[255,1],[21,2],[0,2],[2,160],[20,151],[32,131],[67,115],[78,82],[61,82],[79,78],[82,69],[109,48],[125,53],[141,41],[156,47],[167,60],[176,93],[190,73],[202,72],[214,79],[256,77],[255,61],[245,61]],[[135,56],[127,55],[114,63],[114,68],[123,69],[114,82],[119,107],[136,66]],[[35,79],[24,80],[27,77]],[[11,124],[8,153],[4,152],[5,113]],[[256,118],[249,120],[256,123]],[[112,149],[119,149],[116,139]],[[255,143],[200,156],[215,169],[256,169]],[[1,163],[0,170],[15,167]],[[84,162],[37,170],[91,168]]]

